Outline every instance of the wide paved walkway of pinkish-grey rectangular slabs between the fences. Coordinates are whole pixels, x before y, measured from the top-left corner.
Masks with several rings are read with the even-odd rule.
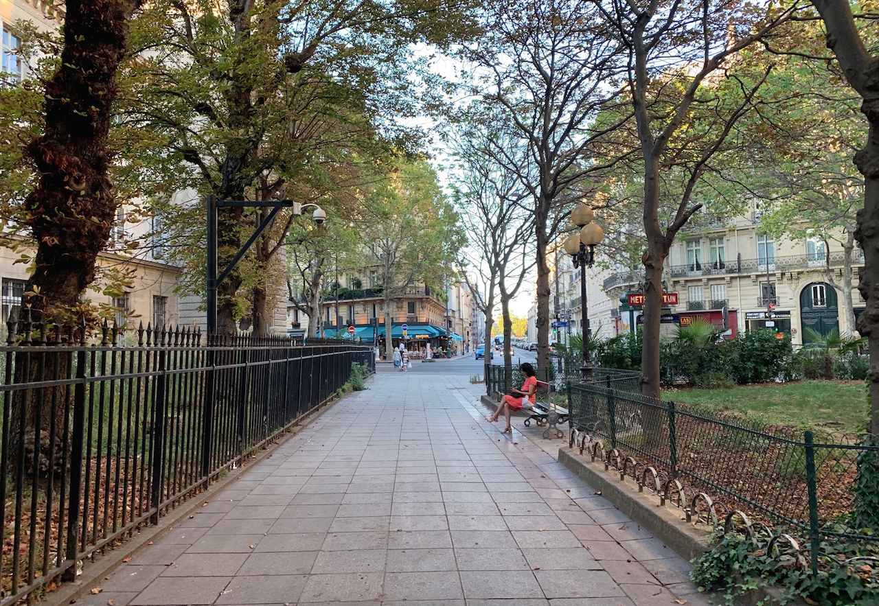
[[[708,603],[689,564],[556,462],[561,441],[485,422],[483,386],[367,386],[76,603]]]

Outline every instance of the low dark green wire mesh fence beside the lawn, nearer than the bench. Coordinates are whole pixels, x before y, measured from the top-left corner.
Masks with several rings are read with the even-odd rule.
[[[737,512],[810,545],[876,540],[879,446],[870,436],[766,427],[614,387],[567,385],[570,446],[620,479],[647,488],[687,521],[714,525]]]

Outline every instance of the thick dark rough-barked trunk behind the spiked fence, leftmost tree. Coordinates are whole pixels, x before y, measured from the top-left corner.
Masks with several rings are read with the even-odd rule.
[[[116,72],[138,6],[136,0],[74,0],[66,5],[61,61],[46,83],[45,133],[26,149],[40,180],[25,198],[27,224],[37,243],[25,292],[36,293],[27,304],[40,312],[35,319],[41,321],[76,321],[73,314],[80,295],[95,279],[98,254],[110,239],[117,202],[107,175],[111,161],[107,134],[118,92]],[[58,364],[69,363],[68,354],[59,357]],[[16,382],[43,379],[37,359],[18,355]],[[13,456],[19,440],[25,443],[25,457],[33,456],[38,427],[45,455],[53,419],[62,428],[64,403],[53,408],[51,390],[42,394],[40,415],[33,395],[25,400],[25,392],[18,392],[13,401],[11,427],[18,428],[22,417],[25,420],[23,435],[11,433]],[[59,463],[61,448],[58,440],[54,460]],[[42,460],[38,465],[45,467]]]

